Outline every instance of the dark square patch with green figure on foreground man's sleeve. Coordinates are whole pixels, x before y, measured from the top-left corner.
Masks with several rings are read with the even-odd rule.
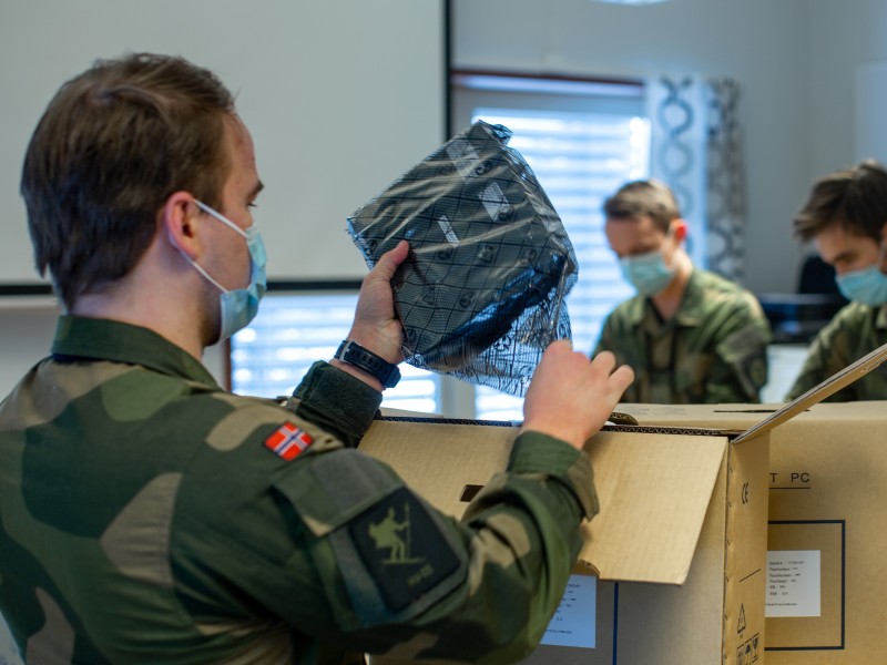
[[[348,530],[392,612],[418,600],[459,566],[425,507],[405,488],[358,515]]]

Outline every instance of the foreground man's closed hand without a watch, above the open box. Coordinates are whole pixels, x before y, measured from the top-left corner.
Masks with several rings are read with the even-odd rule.
[[[523,427],[582,448],[619,403],[634,380],[628,365],[602,351],[589,360],[569,341],[552,342],[536,368],[523,401]]]

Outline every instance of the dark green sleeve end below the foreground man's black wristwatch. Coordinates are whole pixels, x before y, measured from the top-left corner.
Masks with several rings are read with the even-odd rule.
[[[315,362],[286,408],[355,448],[381,403],[381,393],[323,361]]]

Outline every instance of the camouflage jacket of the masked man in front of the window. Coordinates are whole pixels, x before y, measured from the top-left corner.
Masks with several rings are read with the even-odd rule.
[[[623,402],[757,402],[767,382],[771,329],[757,298],[694,269],[675,315],[663,321],[634,296],[604,321],[594,354],[610,350],[634,368]]]

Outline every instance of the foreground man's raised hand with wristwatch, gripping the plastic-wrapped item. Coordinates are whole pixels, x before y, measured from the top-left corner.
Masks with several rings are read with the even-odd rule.
[[[360,286],[354,324],[348,332],[348,339],[394,364],[404,360],[400,352],[404,329],[395,318],[391,277],[408,254],[409,245],[400,241],[397,247],[383,254],[376,262]]]

